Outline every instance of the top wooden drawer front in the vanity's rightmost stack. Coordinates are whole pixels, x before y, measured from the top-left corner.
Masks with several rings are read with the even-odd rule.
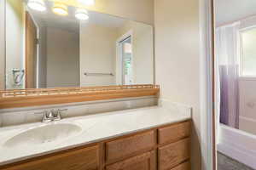
[[[159,144],[176,142],[190,135],[190,122],[183,122],[169,127],[159,128]]]

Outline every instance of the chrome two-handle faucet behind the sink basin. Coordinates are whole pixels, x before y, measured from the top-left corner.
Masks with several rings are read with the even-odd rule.
[[[43,115],[42,122],[53,122],[61,120],[61,112],[67,111],[67,109],[58,109],[58,110],[50,110],[50,111],[42,111],[35,114]]]

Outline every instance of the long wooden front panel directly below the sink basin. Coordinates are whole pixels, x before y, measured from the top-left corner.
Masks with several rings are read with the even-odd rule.
[[[36,161],[29,161],[3,170],[97,170],[99,167],[97,146],[56,154]]]

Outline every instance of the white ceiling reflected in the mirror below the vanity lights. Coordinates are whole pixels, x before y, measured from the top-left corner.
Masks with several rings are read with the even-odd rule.
[[[32,17],[36,20],[39,26],[58,27],[67,31],[79,32],[79,20],[74,17],[76,8],[68,7],[68,15],[60,16],[52,12],[52,2],[45,1],[45,3],[47,10],[44,12],[38,12],[28,8],[29,13],[32,14]],[[111,28],[118,28],[125,24],[124,19],[93,11],[89,11],[89,17],[90,19],[86,21],[89,24],[96,24]]]

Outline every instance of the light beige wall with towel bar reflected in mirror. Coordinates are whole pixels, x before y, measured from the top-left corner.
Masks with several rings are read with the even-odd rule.
[[[80,26],[80,82],[81,86],[107,86],[115,84],[115,77],[84,76],[89,73],[115,75],[115,41],[117,30],[105,26]]]

